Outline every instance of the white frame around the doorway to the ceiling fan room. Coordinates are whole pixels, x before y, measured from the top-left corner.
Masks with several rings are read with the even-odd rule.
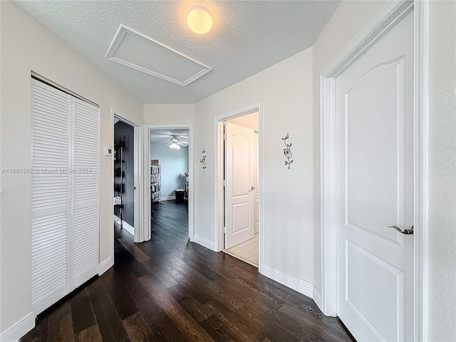
[[[147,215],[145,215],[145,240],[150,240],[151,238],[151,230],[150,230],[150,130],[153,129],[168,129],[168,130],[188,130],[189,135],[189,145],[188,145],[188,170],[190,172],[189,180],[188,180],[188,237],[190,238],[191,242],[195,241],[195,195],[193,193],[194,186],[193,180],[195,169],[193,167],[193,124],[192,123],[167,123],[167,124],[160,124],[160,125],[144,125],[144,175],[145,175],[145,185],[143,189],[145,190],[145,202],[144,207],[147,211]]]

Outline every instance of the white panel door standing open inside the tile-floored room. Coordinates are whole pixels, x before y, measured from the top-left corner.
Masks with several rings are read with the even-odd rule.
[[[226,123],[225,133],[225,248],[255,236],[254,223],[254,132]]]

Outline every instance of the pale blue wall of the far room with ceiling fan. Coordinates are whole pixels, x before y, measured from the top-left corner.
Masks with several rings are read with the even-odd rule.
[[[175,197],[176,189],[184,189],[185,172],[188,172],[188,147],[173,150],[166,144],[150,142],[150,159],[161,165],[161,197]]]

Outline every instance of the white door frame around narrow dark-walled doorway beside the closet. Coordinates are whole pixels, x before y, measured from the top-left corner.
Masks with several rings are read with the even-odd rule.
[[[125,113],[122,113],[120,110],[111,107],[111,119],[112,124],[112,133],[113,133],[113,139],[114,139],[114,120],[115,118],[123,121],[124,123],[128,123],[128,125],[133,126],[134,130],[134,150],[133,153],[135,155],[135,167],[134,167],[134,175],[133,175],[133,182],[134,186],[136,187],[136,191],[134,192],[134,199],[133,199],[133,210],[134,210],[134,220],[135,220],[135,237],[134,241],[135,242],[143,242],[145,241],[144,239],[144,221],[141,219],[144,217],[143,213],[143,204],[142,204],[142,199],[144,197],[143,191],[142,191],[142,177],[141,177],[141,170],[142,170],[142,144],[140,143],[142,141],[142,123],[139,121],[131,118]],[[114,141],[113,141],[113,149],[114,149]],[[114,184],[114,152],[113,152],[113,157],[112,157],[113,163],[112,163],[112,172],[111,172],[111,177],[112,181],[111,184]],[[111,190],[111,198],[114,198],[114,187]],[[114,206],[113,207],[113,212],[112,216],[114,216]],[[113,254],[114,254],[114,238],[113,240]]]

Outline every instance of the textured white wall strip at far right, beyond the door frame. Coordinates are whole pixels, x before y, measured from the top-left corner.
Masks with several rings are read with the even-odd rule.
[[[428,341],[456,341],[456,1],[429,10]]]

